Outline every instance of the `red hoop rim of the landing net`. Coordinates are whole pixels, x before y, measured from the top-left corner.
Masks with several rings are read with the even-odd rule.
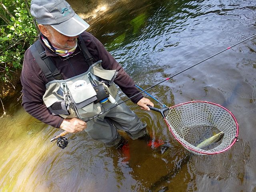
[[[213,102],[209,102],[209,101],[189,101],[189,102],[185,102],[185,103],[181,103],[181,104],[178,104],[178,105],[175,105],[175,106],[172,106],[170,107],[171,108],[175,108],[177,106],[181,106],[181,105],[185,105],[185,104],[189,104],[189,103],[196,103],[196,102],[200,102],[200,103],[208,103],[208,104],[212,104],[212,105],[216,105],[216,106],[219,106],[221,107],[222,109],[226,110],[231,116],[232,118],[234,119],[235,123],[236,123],[236,136],[233,140],[233,142],[230,144],[230,146],[228,146],[227,148],[223,149],[223,150],[220,150],[218,152],[202,152],[202,151],[198,151],[198,150],[195,150],[194,148],[191,148],[190,146],[187,146],[186,144],[184,144],[183,142],[181,142],[177,137],[176,135],[174,134],[174,132],[172,131],[172,128],[170,127],[170,124],[168,122],[168,120],[164,117],[164,120],[166,122],[166,124],[168,125],[168,128],[170,130],[170,132],[172,133],[172,135],[174,136],[174,138],[180,143],[182,144],[182,146],[184,146],[185,148],[188,148],[194,152],[197,152],[197,153],[200,153],[200,154],[219,154],[219,153],[222,153],[228,149],[230,149],[237,141],[238,141],[238,132],[239,132],[239,126],[238,126],[238,122],[235,118],[235,116],[232,114],[232,112],[230,112],[230,110],[228,110],[227,108],[219,105],[219,104],[216,104],[216,103],[213,103]]]

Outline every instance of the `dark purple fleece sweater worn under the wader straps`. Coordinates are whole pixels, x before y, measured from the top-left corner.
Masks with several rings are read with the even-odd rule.
[[[135,87],[134,81],[128,76],[122,66],[118,64],[111,54],[106,51],[103,44],[88,32],[83,32],[81,35],[90,54],[94,58],[94,62],[102,60],[102,67],[104,69],[115,69],[118,71],[118,75],[116,76],[114,82],[121,88],[124,94],[131,97],[139,93]],[[80,52],[79,47],[77,47],[73,53],[78,54],[67,60],[63,60],[63,58],[46,47],[41,38],[39,38],[39,40],[46,50],[46,55],[51,56],[64,79],[77,76],[88,70],[88,65],[86,64],[84,56],[82,55],[82,52]],[[49,81],[46,79],[44,73],[33,58],[30,48],[26,50],[24,55],[20,80],[23,86],[22,106],[26,112],[46,124],[59,128],[63,118],[58,115],[53,116],[43,102],[43,95],[46,90],[45,84],[47,84]],[[131,100],[132,102],[137,103],[142,97],[142,94],[138,94],[138,96],[135,96]]]

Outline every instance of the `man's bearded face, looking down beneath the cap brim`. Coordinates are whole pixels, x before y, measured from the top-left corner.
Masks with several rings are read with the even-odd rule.
[[[51,29],[48,28],[49,35],[47,38],[52,45],[65,50],[72,49],[76,46],[76,38],[78,38],[78,36],[68,37],[56,31],[54,28],[50,28]]]

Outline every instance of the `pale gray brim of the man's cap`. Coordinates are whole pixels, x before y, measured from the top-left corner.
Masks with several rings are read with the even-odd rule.
[[[90,25],[75,14],[69,20],[51,26],[65,36],[74,37],[84,32]]]

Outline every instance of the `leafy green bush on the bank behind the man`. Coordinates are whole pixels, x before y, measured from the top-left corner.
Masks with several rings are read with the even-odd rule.
[[[24,52],[38,36],[29,6],[30,0],[0,0],[1,85],[19,75]]]

